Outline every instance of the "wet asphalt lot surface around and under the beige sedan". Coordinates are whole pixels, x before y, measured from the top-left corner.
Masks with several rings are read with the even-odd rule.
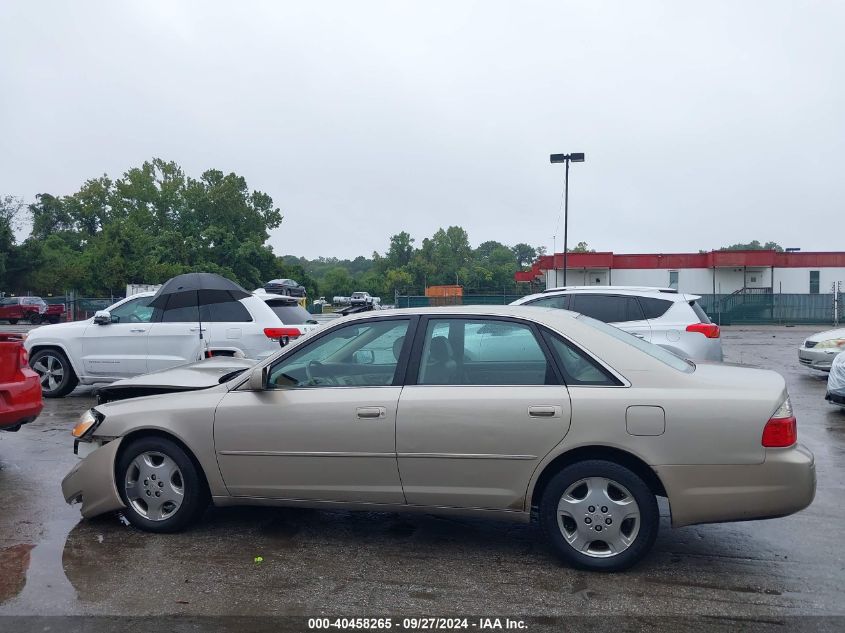
[[[210,509],[177,535],[81,520],[59,482],[90,390],[0,433],[0,615],[845,615],[845,410],[796,348],[824,328],[726,327],[726,360],[786,378],[818,491],[782,519],[670,529],[625,573],[566,567],[536,526],[382,513]],[[664,515],[666,515],[664,507]],[[261,560],[257,561],[257,557]]]

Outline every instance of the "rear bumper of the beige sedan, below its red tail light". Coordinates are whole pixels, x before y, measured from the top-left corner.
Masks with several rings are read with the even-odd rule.
[[[658,466],[672,526],[752,521],[803,510],[816,494],[813,454],[801,444],[766,449],[762,464]]]

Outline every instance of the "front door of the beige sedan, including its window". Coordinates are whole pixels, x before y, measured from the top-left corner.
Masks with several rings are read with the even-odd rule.
[[[214,441],[229,492],[404,503],[396,408],[410,323],[364,319],[334,328],[271,364],[263,391],[226,395]]]

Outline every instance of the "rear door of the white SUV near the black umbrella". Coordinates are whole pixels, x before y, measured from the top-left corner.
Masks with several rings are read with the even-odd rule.
[[[208,342],[207,326],[200,340],[199,310],[196,306],[156,309],[147,338],[148,371],[184,365],[203,357]]]

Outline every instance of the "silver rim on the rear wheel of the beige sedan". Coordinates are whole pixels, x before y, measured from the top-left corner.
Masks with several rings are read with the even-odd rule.
[[[628,549],[640,531],[640,507],[624,486],[604,477],[588,477],[566,489],[557,505],[563,538],[593,558],[609,558]]]

